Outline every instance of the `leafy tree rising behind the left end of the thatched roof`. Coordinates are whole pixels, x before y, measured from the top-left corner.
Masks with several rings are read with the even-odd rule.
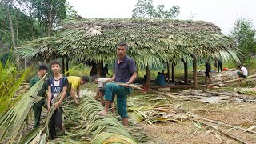
[[[33,0],[32,15],[45,28],[46,36],[59,26],[62,19],[76,16],[76,11],[66,0]]]

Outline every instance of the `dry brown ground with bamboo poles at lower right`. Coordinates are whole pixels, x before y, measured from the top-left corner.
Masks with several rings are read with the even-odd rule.
[[[244,129],[253,126],[252,122],[244,118],[256,122],[256,106],[255,103],[251,102],[208,104],[190,101],[174,102],[174,104],[182,106],[183,109],[197,114],[199,117],[241,126]],[[242,142],[256,143],[255,134],[234,130],[226,126],[218,126],[198,118],[189,118],[184,122],[161,122],[153,125],[141,122],[138,126],[143,127],[143,131],[150,138],[150,141],[146,143],[240,143],[200,122],[216,126],[218,130],[222,130]]]

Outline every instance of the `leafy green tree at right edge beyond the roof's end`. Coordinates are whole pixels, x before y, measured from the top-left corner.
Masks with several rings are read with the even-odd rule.
[[[234,23],[232,35],[238,48],[245,54],[245,57],[242,58],[242,62],[250,60],[250,56],[256,54],[256,30],[252,22],[245,18],[238,19]]]

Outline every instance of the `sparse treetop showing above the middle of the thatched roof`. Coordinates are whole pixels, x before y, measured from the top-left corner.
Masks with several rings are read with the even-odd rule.
[[[158,5],[154,9],[153,0],[138,0],[132,14],[133,18],[176,18],[180,14],[179,6],[172,6],[170,10],[164,10],[164,5]]]

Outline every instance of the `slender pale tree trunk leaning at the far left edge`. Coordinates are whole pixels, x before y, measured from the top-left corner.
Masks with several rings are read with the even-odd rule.
[[[10,22],[11,42],[13,44],[14,51],[16,51],[17,48],[16,48],[16,43],[15,43],[14,24],[13,24],[13,20],[11,18],[11,15],[10,15],[9,6],[7,5],[6,1],[5,1],[5,5],[6,5],[6,12],[8,14],[8,19],[9,19],[9,22]],[[19,55],[18,54],[15,54],[15,61],[16,61],[16,66],[19,67]]]

